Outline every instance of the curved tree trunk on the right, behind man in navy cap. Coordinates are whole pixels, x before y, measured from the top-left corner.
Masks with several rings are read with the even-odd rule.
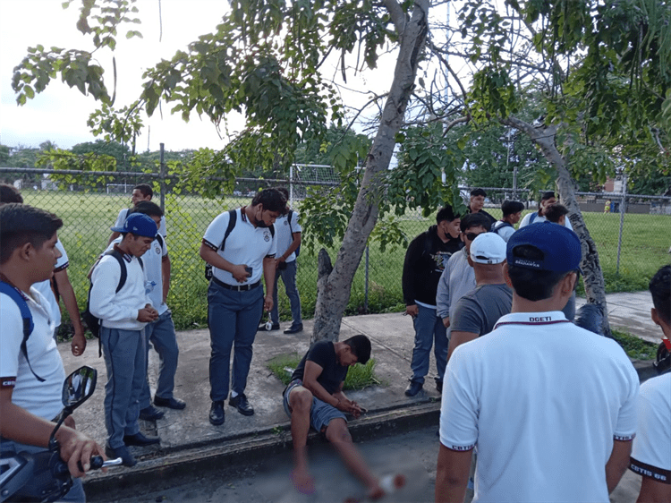
[[[582,219],[582,212],[575,200],[575,189],[573,188],[573,179],[566,168],[566,158],[564,158],[556,149],[555,138],[558,129],[556,124],[536,128],[531,124],[525,123],[513,116],[501,121],[503,124],[512,126],[521,132],[524,132],[531,138],[531,141],[539,146],[548,163],[556,170],[556,188],[559,192],[562,204],[568,209],[568,217],[571,220],[573,231],[578,234],[582,245],[582,260],[580,267],[582,269],[582,280],[585,285],[585,295],[587,303],[593,303],[599,306],[603,313],[603,333],[606,337],[612,337],[610,324],[608,323],[608,311],[606,304],[606,285],[603,279],[603,272],[599,263],[599,252],[597,245],[590,236],[585,222]]]

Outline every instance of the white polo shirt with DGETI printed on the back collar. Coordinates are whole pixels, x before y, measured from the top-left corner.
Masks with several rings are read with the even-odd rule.
[[[440,442],[477,445],[473,501],[608,501],[614,439],[633,439],[639,378],[617,343],[561,311],[506,314],[447,364]]]

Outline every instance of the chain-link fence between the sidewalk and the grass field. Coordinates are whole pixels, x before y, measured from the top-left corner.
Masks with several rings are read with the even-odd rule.
[[[214,217],[228,209],[249,204],[259,188],[285,185],[294,209],[308,185],[333,186],[335,175],[328,166],[294,166],[288,181],[238,179],[233,193],[216,200],[198,194],[175,193],[165,189],[166,179],[157,173],[72,172],[78,183],[55,183],[52,175],[68,172],[0,167],[0,181],[20,188],[27,204],[54,212],[64,220],[59,236],[70,259],[68,274],[80,307],[86,301],[86,275],[98,254],[106,248],[120,209],[131,205],[131,192],[138,183],[154,183],[154,201],[166,211],[167,243],[172,261],[168,305],[178,328],[202,327],[207,323],[207,288],[204,263],[199,256],[200,240]],[[103,178],[104,175],[104,178]],[[92,190],[90,187],[96,187]],[[87,187],[83,189],[83,187]],[[160,188],[163,187],[163,192]],[[504,199],[527,200],[525,191],[488,189],[486,210],[501,217]],[[469,188],[463,188],[467,200]],[[615,204],[614,204],[615,203]],[[597,244],[607,291],[641,290],[657,269],[668,263],[671,245],[671,198],[654,198],[616,193],[580,194],[582,214]],[[527,203],[526,211],[536,209]],[[607,207],[607,212],[604,209]],[[525,211],[525,212],[526,212]],[[409,211],[401,226],[409,241],[433,225],[435,220]],[[336,249],[328,250],[335,260]],[[401,276],[405,250],[380,252],[370,243],[352,283],[352,296],[346,314],[400,311],[403,309]],[[305,318],[314,314],[317,299],[317,251],[302,250],[298,259],[297,285]],[[280,316],[291,318],[289,301],[280,284]],[[66,327],[64,323],[64,327]]]

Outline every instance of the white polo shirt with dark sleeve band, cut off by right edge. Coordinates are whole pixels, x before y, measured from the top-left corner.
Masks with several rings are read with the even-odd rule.
[[[639,430],[630,470],[671,484],[671,373],[648,379],[639,395]]]

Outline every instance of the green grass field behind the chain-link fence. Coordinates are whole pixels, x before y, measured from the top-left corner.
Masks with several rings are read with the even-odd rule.
[[[119,209],[128,208],[128,194],[96,194],[81,192],[23,191],[27,204],[48,209],[64,220],[59,236],[70,258],[70,276],[81,309],[86,302],[88,282],[86,274],[91,264],[107,243],[109,227]],[[203,277],[204,262],[198,250],[205,229],[214,217],[227,209],[249,203],[249,198],[205,200],[199,196],[166,196],[168,248],[172,260],[171,290],[168,305],[173,311],[178,329],[202,328],[207,325],[208,284]],[[500,210],[487,209],[494,217]],[[667,250],[671,244],[671,216],[626,215],[620,271],[616,274],[618,214],[584,213],[585,223],[597,244],[599,260],[607,292],[644,290],[650,277],[669,261]],[[401,222],[403,232],[412,239],[434,223],[417,212],[406,215]],[[303,247],[298,259],[296,283],[301,294],[302,314],[306,319],[314,315],[317,302],[317,250]],[[335,260],[337,248],[327,250]],[[402,311],[403,292],[401,276],[405,250],[379,252],[375,243],[369,251],[368,312]],[[365,312],[365,256],[352,281],[352,293],[345,315]],[[289,301],[284,286],[279,287],[280,318],[290,320]],[[64,321],[67,315],[64,313]]]

